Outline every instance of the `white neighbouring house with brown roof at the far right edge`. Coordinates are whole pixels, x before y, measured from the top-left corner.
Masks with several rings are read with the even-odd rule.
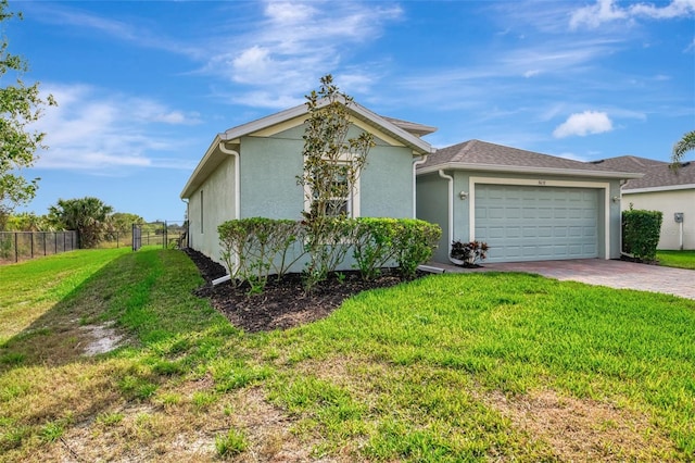
[[[678,171],[668,162],[623,155],[594,163],[619,171],[641,172],[622,186],[622,210],[661,211],[664,222],[658,249],[695,249],[695,164],[685,162]],[[677,222],[675,214],[682,214]]]

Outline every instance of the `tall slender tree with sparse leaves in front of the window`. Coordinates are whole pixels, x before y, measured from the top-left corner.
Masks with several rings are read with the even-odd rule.
[[[333,84],[330,74],[321,77],[320,88],[306,97],[308,118],[304,132],[304,170],[298,184],[304,187],[303,211],[306,248],[311,262],[305,286],[311,289],[342,262],[348,252],[351,227],[348,218],[374,136],[359,130],[350,137],[353,123],[349,107],[353,100]]]

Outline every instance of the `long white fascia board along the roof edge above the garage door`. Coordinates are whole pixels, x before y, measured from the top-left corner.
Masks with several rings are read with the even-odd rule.
[[[563,175],[571,177],[593,177],[593,178],[642,178],[644,174],[611,171],[584,171],[581,168],[557,168],[557,167],[535,167],[526,165],[498,165],[498,164],[469,164],[458,162],[447,162],[439,165],[430,165],[419,168],[417,175],[431,174],[441,170],[477,171],[477,172],[501,172],[513,174],[542,174]]]

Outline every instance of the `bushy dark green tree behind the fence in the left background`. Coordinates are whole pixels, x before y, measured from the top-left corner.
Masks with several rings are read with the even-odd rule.
[[[59,199],[49,208],[49,217],[55,226],[77,230],[80,249],[96,247],[111,232],[113,208],[98,198]]]

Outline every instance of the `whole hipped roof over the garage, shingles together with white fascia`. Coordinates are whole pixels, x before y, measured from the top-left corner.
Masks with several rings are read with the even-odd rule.
[[[637,178],[632,170],[598,166],[585,162],[520,150],[480,140],[469,140],[438,150],[418,167],[418,174],[442,168],[518,172],[603,178]]]

